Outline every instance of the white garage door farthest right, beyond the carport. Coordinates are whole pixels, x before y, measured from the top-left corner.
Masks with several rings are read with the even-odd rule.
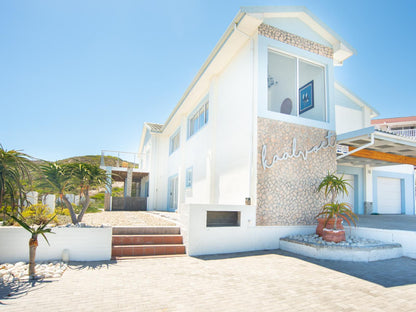
[[[377,178],[377,212],[401,214],[402,188],[400,179]]]

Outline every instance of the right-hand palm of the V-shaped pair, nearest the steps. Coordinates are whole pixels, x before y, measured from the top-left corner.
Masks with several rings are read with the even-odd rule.
[[[72,167],[71,172],[73,186],[77,187],[81,197],[84,197],[84,200],[82,201],[81,212],[78,214],[77,218],[77,221],[81,222],[90,204],[90,189],[105,186],[111,182],[108,180],[107,173],[100,169],[98,165],[88,163],[75,163],[69,166]]]

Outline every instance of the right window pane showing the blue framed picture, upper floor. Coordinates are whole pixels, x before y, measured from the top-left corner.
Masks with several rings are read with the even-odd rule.
[[[304,106],[304,112],[300,109],[300,117],[326,121],[325,74],[322,66],[299,61],[299,101],[299,107]]]

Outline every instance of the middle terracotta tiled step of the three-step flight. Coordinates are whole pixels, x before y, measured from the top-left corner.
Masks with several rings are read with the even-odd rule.
[[[113,235],[113,245],[157,245],[182,243],[182,235]]]

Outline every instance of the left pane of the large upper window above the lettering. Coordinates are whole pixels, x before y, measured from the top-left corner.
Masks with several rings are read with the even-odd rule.
[[[273,112],[297,115],[296,58],[269,52],[268,109]]]

